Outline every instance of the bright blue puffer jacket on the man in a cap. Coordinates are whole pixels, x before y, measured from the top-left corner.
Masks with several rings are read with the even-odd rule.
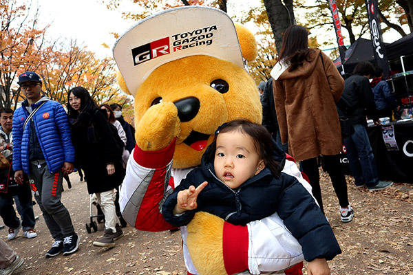
[[[38,107],[46,98],[32,104],[32,109]],[[47,100],[47,99],[46,99]],[[45,104],[34,114],[33,121],[26,124],[23,131],[23,124],[29,116],[25,107],[28,101],[25,100],[19,109],[14,111],[13,117],[13,169],[15,171],[23,169],[27,174],[29,169],[29,142],[30,124],[34,121],[41,151],[45,157],[50,173],[55,173],[63,166],[63,162],[74,162],[74,148],[70,136],[70,126],[67,121],[65,109],[59,102],[47,100]]]

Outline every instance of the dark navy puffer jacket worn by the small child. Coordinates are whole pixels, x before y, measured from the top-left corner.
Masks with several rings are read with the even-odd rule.
[[[275,178],[268,168],[264,168],[233,190],[218,179],[213,162],[207,161],[205,155],[211,150],[209,146],[202,157],[201,166],[193,169],[186,179],[182,179],[163,203],[162,214],[165,221],[176,226],[187,225],[195,212],[204,211],[215,214],[229,223],[245,225],[277,212],[286,228],[302,246],[306,261],[316,258],[331,260],[341,253],[326,217],[310,193],[295,177],[281,173],[279,178]],[[283,168],[285,153],[276,144],[275,150],[273,158]],[[191,185],[196,188],[204,181],[208,181],[208,185],[198,195],[198,208],[179,216],[173,215],[178,192]]]

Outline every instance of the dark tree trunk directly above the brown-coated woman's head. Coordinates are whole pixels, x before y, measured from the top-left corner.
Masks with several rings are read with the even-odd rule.
[[[264,0],[268,21],[274,34],[275,47],[277,52],[281,51],[282,36],[286,29],[295,24],[293,11],[293,0]]]

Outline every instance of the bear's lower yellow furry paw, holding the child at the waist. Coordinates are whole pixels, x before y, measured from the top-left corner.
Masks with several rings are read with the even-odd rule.
[[[196,213],[187,226],[189,254],[200,275],[226,274],[222,256],[223,227],[223,219],[207,212]]]

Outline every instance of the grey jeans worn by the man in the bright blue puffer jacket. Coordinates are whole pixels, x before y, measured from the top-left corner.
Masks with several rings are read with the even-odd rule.
[[[44,161],[32,161],[30,162],[30,175],[28,176],[30,184],[36,186],[36,190],[33,190],[34,198],[39,203],[45,223],[53,239],[56,241],[63,240],[64,237],[74,234],[69,211],[61,202],[62,171],[59,170],[52,174]]]

